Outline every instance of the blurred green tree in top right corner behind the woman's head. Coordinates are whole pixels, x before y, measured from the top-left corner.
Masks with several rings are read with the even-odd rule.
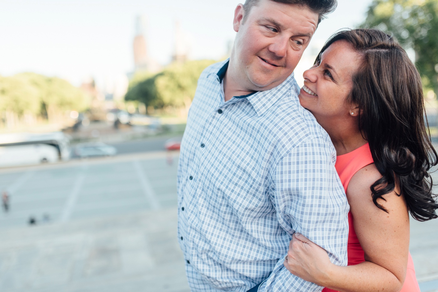
[[[392,32],[412,48],[424,87],[438,92],[438,0],[374,0],[361,26]]]

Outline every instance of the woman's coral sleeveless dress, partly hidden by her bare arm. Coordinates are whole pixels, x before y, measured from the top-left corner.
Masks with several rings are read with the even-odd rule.
[[[336,158],[336,171],[339,174],[341,183],[344,186],[345,192],[347,191],[348,183],[353,175],[361,168],[374,163],[371,156],[370,146],[367,144],[353,150],[347,154],[339,155]],[[360,246],[359,239],[357,239],[356,232],[354,232],[353,215],[348,212],[348,224],[350,230],[348,233],[348,265],[360,264],[365,261],[364,250]],[[322,292],[336,292],[335,290],[324,288]],[[403,288],[400,292],[420,292],[417,278],[415,277],[415,270],[413,268],[412,257],[409,253],[408,267],[406,270],[406,279],[403,284]]]

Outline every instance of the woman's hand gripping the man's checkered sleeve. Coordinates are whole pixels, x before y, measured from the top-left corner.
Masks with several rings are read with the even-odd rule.
[[[326,281],[330,279],[332,263],[327,251],[304,235],[295,233],[289,243],[284,266],[292,274],[306,281],[325,286]]]

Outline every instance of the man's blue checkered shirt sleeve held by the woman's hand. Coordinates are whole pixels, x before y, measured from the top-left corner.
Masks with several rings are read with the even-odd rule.
[[[349,205],[334,155],[332,145],[322,138],[295,147],[273,173],[272,203],[290,236],[302,233],[327,250],[332,263],[346,266]],[[284,257],[279,259],[258,291],[321,291],[322,287],[291,274],[283,261]]]

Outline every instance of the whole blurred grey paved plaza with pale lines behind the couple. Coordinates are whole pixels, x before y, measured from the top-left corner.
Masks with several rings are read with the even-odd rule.
[[[0,291],[190,291],[176,174],[177,152],[1,169]],[[411,219],[410,252],[422,292],[438,291],[438,219]]]

